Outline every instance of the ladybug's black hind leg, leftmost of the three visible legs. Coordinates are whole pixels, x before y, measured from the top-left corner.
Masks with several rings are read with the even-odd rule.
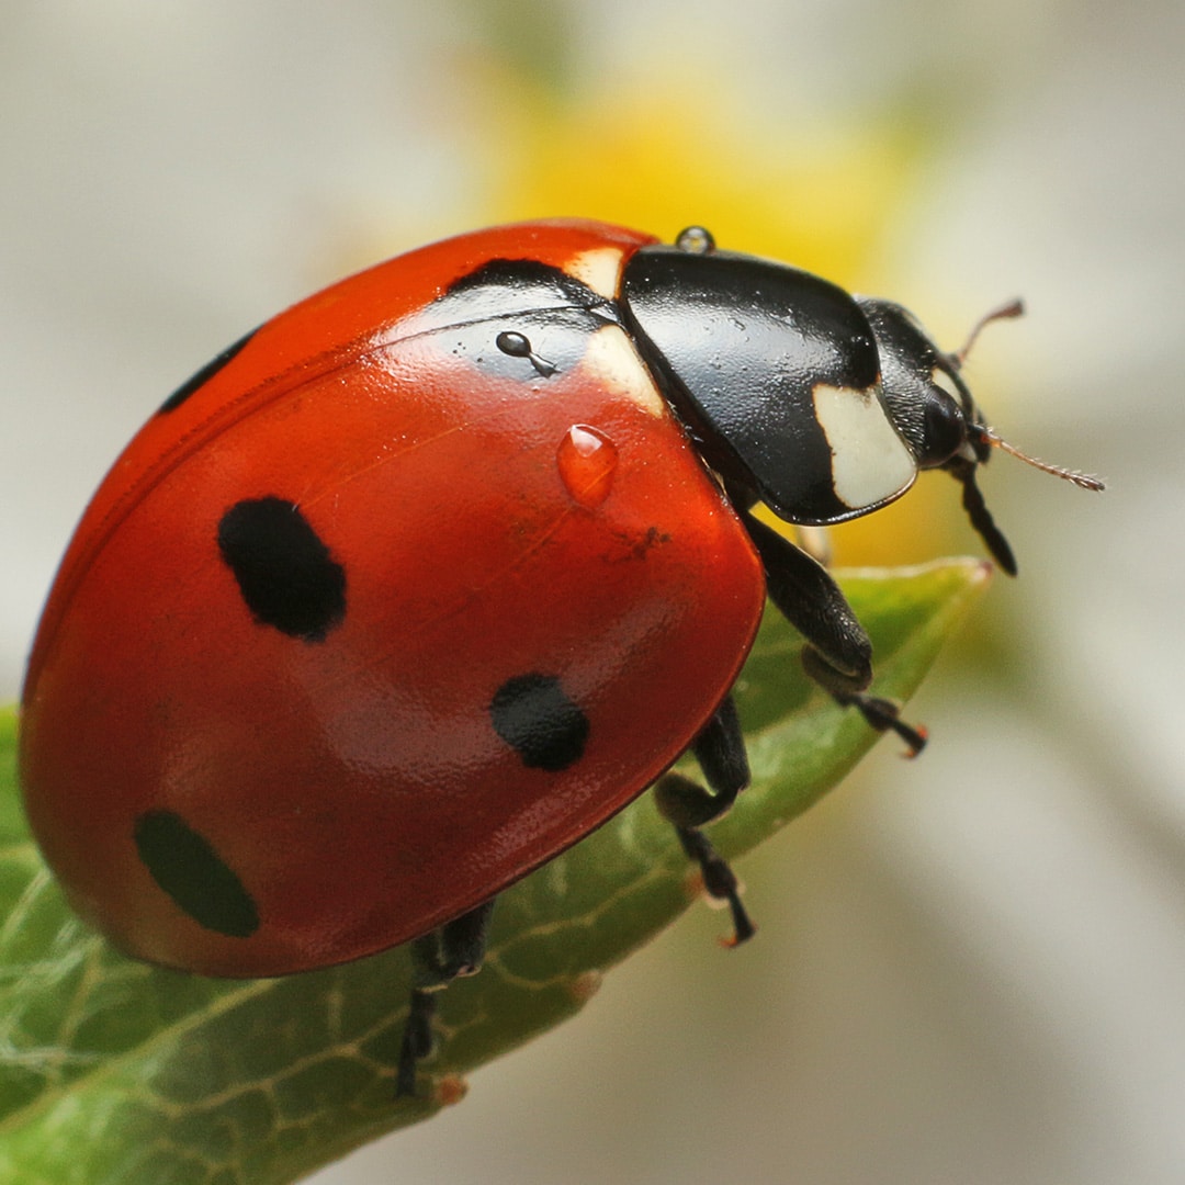
[[[395,1096],[416,1093],[416,1065],[433,1051],[436,993],[481,969],[494,898],[411,943],[411,1011],[403,1029]]]

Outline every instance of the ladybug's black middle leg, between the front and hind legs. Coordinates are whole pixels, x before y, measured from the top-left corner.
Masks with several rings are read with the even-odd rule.
[[[691,749],[707,789],[683,774],[665,774],[654,787],[654,798],[659,812],[674,825],[683,850],[699,865],[709,896],[728,902],[736,944],[752,937],[755,927],[741,903],[736,875],[699,830],[719,819],[749,784],[749,758],[731,696],[716,709]]]

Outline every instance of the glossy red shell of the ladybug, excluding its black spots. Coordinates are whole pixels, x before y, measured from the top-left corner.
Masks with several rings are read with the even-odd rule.
[[[118,946],[219,975],[384,949],[588,834],[693,739],[763,604],[744,529],[619,325],[565,329],[557,365],[546,326],[530,354],[495,345],[531,324],[513,290],[449,320],[489,261],[611,302],[648,242],[536,223],[391,260],[263,325],[133,440],[46,607],[20,754],[50,864]],[[342,575],[303,636],[219,553],[228,508],[269,499]],[[582,722],[562,761],[491,725],[539,678]],[[200,837],[194,875],[212,853],[255,924],[162,890],[146,819]]]

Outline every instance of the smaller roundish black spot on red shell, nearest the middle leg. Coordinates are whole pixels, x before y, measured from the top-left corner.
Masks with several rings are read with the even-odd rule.
[[[529,769],[558,773],[584,752],[589,720],[550,674],[507,679],[489,705],[494,731]]]

